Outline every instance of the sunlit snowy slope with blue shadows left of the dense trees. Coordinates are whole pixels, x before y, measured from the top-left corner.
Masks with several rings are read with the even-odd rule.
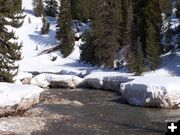
[[[51,24],[50,31],[47,35],[41,35],[42,20],[34,16],[31,3],[32,0],[23,0],[24,14],[26,17],[23,26],[16,30],[19,42],[23,43],[23,59],[19,62],[19,70],[38,72],[60,72],[61,70],[68,70],[79,73],[80,70],[86,69],[84,65],[78,63],[80,57],[79,45],[81,41],[76,42],[74,51],[65,59],[61,57],[59,51],[38,55],[42,50],[59,44],[55,38],[56,19],[49,17]],[[29,20],[31,23],[29,23]],[[57,57],[57,60],[51,61],[53,57]]]

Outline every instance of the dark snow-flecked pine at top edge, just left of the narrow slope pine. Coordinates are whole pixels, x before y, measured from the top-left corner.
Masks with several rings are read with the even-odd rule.
[[[45,0],[45,14],[47,16],[56,17],[58,14],[58,3],[56,0]]]

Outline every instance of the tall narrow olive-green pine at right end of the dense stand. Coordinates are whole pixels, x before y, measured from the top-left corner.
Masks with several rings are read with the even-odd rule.
[[[160,64],[160,22],[161,10],[159,0],[148,1],[146,9],[146,53],[151,70]]]

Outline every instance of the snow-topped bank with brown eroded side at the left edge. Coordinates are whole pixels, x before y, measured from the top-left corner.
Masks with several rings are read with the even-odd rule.
[[[37,86],[0,83],[0,117],[30,109],[39,103],[42,91]]]

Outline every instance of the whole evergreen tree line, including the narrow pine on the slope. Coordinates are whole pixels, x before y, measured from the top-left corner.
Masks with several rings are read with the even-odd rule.
[[[159,66],[165,35],[161,35],[162,13],[170,16],[171,0],[60,0],[59,8],[56,0],[47,1],[47,15],[59,9],[50,16],[58,17],[57,38],[64,57],[74,47],[72,20],[84,23],[90,20],[92,28],[83,35],[81,61],[106,68],[126,63],[129,71],[137,75]]]

